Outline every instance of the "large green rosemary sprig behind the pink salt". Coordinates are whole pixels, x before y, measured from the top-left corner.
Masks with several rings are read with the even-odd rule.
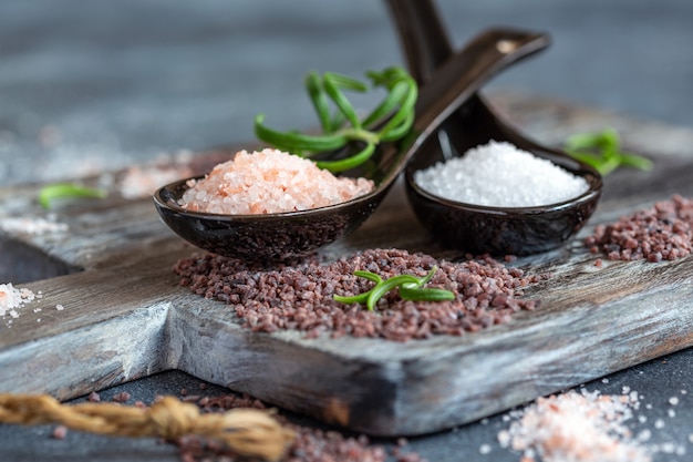
[[[334,72],[322,75],[311,72],[306,78],[306,90],[318,113],[322,134],[279,132],[267,127],[265,115],[258,114],[255,117],[256,136],[279,150],[308,158],[359,143],[363,147],[352,156],[339,161],[318,160],[316,163],[334,173],[361,165],[371,157],[379,143],[396,141],[408,133],[418,97],[416,82],[400,66],[366,72],[366,76],[373,89],[383,88],[387,93],[365,117],[359,117],[343,91],[363,93],[369,90],[366,84]]]

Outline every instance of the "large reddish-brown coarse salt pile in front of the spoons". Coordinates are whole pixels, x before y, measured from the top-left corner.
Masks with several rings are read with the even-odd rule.
[[[387,292],[376,309],[361,304],[340,304],[333,296],[370,290],[373,283],[355,276],[358,269],[383,279],[437,270],[430,287],[455,292],[454,300],[403,300]],[[296,267],[250,268],[241,260],[205,254],[176,263],[180,285],[195,294],[229,304],[242,326],[259,332],[298,330],[307,337],[329,332],[332,337],[383,338],[393,341],[426,339],[435,335],[461,336],[509,321],[540,300],[523,299],[524,289],[544,280],[526,276],[486,256],[447,261],[403,249],[368,249],[332,263],[308,259]]]

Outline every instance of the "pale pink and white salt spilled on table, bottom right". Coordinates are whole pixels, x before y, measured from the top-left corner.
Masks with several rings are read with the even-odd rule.
[[[624,423],[637,404],[637,393],[570,390],[539,398],[498,433],[498,442],[527,462],[650,462],[651,451]]]

